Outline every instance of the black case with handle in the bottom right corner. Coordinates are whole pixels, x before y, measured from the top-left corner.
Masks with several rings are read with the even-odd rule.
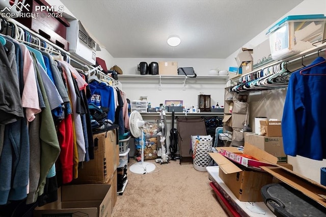
[[[278,217],[326,216],[326,207],[283,182],[263,186],[261,194],[266,206]]]

